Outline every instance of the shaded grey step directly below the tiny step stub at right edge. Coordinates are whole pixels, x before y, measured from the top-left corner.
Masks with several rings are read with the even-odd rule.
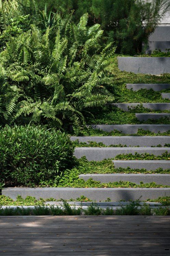
[[[170,103],[112,103],[111,105],[117,106],[124,111],[129,111],[129,108],[131,109],[137,106],[153,110],[170,110]]]

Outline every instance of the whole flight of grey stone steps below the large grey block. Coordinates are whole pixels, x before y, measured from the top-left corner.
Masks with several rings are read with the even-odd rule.
[[[170,84],[127,84],[126,88],[132,90],[139,90],[141,88],[152,88],[155,91],[163,89],[170,89]],[[170,95],[170,94],[168,94]],[[163,98],[169,96],[162,94]],[[138,103],[114,103],[124,111],[128,111],[130,107],[136,107]],[[170,110],[170,103],[143,103],[144,108],[154,109],[158,111]],[[147,120],[148,118],[160,118],[162,114],[166,113],[136,113],[136,117],[139,120]],[[150,116],[152,115],[152,116]],[[168,114],[169,116],[169,114]],[[123,125],[90,125],[94,129],[101,129],[103,131],[118,130],[127,134],[128,136],[94,136],[94,137],[75,137],[72,136],[71,140],[79,140],[79,142],[95,141],[102,142],[103,144],[113,147],[77,147],[75,148],[75,156],[81,158],[86,156],[87,160],[101,161],[103,159],[113,159],[119,154],[132,154],[135,153],[154,154],[160,156],[162,153],[170,153],[170,147],[165,147],[165,144],[170,144],[170,136],[129,136],[136,134],[138,129],[149,130],[155,133],[166,132],[170,130],[170,124],[123,124]],[[124,147],[114,147],[114,145],[124,145]],[[159,145],[159,147],[157,147]],[[136,157],[137,158],[137,157]],[[116,181],[129,181],[136,184],[155,182],[157,184],[170,186],[170,174],[167,173],[152,173],[158,168],[161,170],[170,169],[169,160],[112,160],[114,168],[131,168],[137,170],[137,173],[122,173],[117,169],[116,173],[108,174],[81,174],[79,178],[88,180],[93,179],[103,183],[116,182]],[[140,173],[140,169],[145,169],[149,173]],[[120,169],[122,170],[122,169]],[[21,195],[25,198],[27,195],[35,196],[36,198],[56,198],[56,199],[76,199],[81,195],[85,195],[87,198],[93,201],[105,201],[110,198],[111,201],[120,200],[147,200],[156,199],[161,196],[170,196],[170,188],[6,188],[2,190],[2,194],[10,196],[12,199],[16,199],[17,195]]]

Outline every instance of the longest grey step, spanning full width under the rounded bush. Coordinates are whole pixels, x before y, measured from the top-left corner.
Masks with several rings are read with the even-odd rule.
[[[2,195],[16,199],[17,195],[22,198],[35,196],[40,198],[55,199],[76,199],[81,195],[94,201],[105,201],[108,198],[112,201],[120,200],[147,200],[156,199],[162,196],[170,196],[170,188],[6,188],[2,190]]]

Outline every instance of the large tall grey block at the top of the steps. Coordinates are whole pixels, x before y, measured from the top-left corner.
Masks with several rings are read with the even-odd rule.
[[[161,75],[170,73],[170,57],[118,57],[118,67],[135,74]]]

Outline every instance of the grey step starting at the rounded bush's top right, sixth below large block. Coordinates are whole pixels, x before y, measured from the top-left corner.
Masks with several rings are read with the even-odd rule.
[[[72,141],[78,140],[79,142],[95,141],[102,142],[103,144],[109,145],[126,145],[129,146],[165,146],[170,144],[170,136],[71,136]]]

